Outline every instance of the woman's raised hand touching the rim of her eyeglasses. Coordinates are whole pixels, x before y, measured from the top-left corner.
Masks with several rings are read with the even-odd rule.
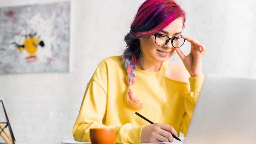
[[[202,57],[206,52],[205,46],[189,36],[181,35],[181,37],[191,44],[191,50],[187,56],[184,55],[180,48],[175,48],[183,64],[185,65],[185,68],[191,77],[203,76]]]

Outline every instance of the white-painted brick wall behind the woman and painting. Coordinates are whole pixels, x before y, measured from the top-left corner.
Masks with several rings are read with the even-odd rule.
[[[53,1],[0,0],[0,6]],[[72,0],[70,72],[0,75],[0,100],[4,101],[17,142],[42,144],[73,139],[72,127],[87,82],[103,58],[122,54],[123,38],[142,2]],[[203,59],[205,74],[256,78],[255,1],[178,2],[187,12],[184,34],[208,49]],[[96,35],[102,39],[94,39]],[[185,53],[188,46],[183,47]],[[181,62],[177,54],[171,60]]]

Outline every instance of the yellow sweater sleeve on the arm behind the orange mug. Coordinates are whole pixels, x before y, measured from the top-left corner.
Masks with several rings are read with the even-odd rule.
[[[90,128],[115,128],[117,133],[114,143],[140,143],[140,134],[143,126],[135,127],[131,123],[105,125],[108,96],[107,78],[104,78],[107,77],[106,71],[106,64],[101,63],[96,69],[93,78],[87,84],[80,111],[73,127],[74,139],[76,141],[90,142]],[[97,78],[98,81],[94,78]]]

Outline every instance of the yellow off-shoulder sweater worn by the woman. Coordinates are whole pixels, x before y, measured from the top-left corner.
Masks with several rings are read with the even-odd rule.
[[[143,126],[149,125],[135,112],[154,123],[171,125],[186,135],[204,76],[189,78],[190,85],[164,76],[168,60],[158,72],[136,67],[131,90],[143,103],[135,110],[125,102],[126,69],[121,56],[102,60],[87,84],[82,105],[73,127],[76,141],[90,141],[90,128],[116,128],[115,143],[140,143]]]

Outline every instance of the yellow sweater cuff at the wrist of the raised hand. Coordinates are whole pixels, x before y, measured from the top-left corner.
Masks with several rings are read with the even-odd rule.
[[[192,93],[200,93],[201,88],[204,83],[205,76],[197,76],[188,78],[190,83],[190,92]]]

